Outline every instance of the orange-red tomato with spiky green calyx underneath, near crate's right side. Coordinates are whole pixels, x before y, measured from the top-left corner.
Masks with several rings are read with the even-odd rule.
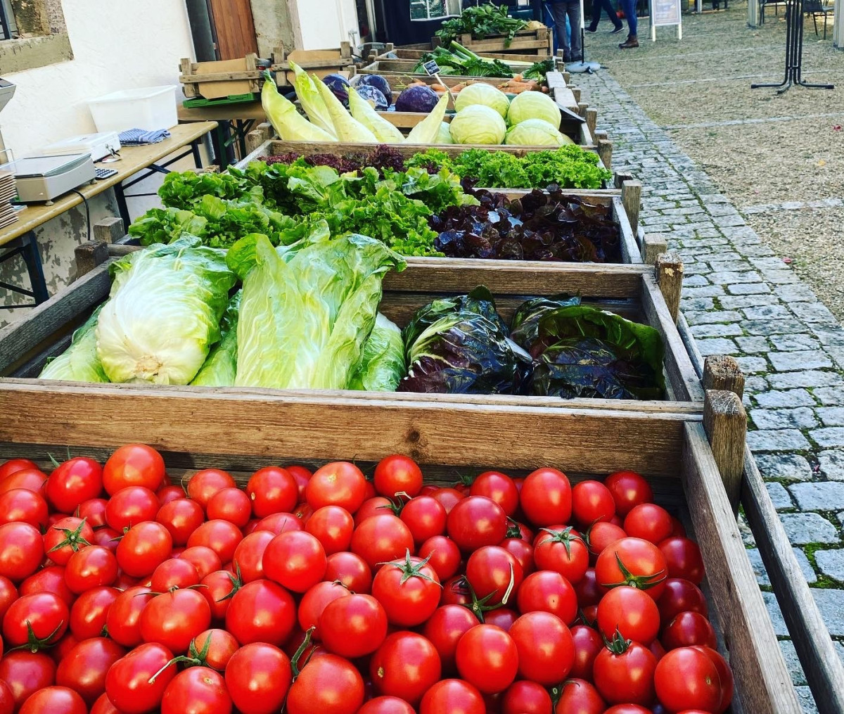
[[[663,554],[656,545],[641,538],[621,538],[601,551],[595,575],[603,587],[630,585],[657,600],[668,577]]]

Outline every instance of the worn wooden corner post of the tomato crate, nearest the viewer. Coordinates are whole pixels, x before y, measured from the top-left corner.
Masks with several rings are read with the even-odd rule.
[[[703,428],[721,473],[724,490],[727,491],[733,511],[737,511],[747,432],[747,414],[738,394],[722,389],[707,389],[703,400]]]

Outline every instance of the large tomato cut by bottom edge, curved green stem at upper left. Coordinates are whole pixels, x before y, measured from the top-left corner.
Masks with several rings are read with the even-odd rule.
[[[319,473],[319,472],[317,472]],[[314,474],[314,478],[317,477]],[[287,695],[287,714],[355,714],[364,702],[364,680],[354,665],[333,654],[311,658]]]

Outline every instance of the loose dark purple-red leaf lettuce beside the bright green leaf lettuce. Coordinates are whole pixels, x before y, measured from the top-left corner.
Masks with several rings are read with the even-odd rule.
[[[447,257],[621,261],[619,228],[609,206],[566,195],[557,186],[513,200],[483,189],[468,192],[479,206],[452,206],[429,219],[439,234],[436,249]]]

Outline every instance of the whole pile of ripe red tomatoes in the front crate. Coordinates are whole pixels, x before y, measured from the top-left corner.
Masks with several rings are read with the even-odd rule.
[[[403,456],[0,466],[0,714],[720,714],[701,554],[636,473]]]

